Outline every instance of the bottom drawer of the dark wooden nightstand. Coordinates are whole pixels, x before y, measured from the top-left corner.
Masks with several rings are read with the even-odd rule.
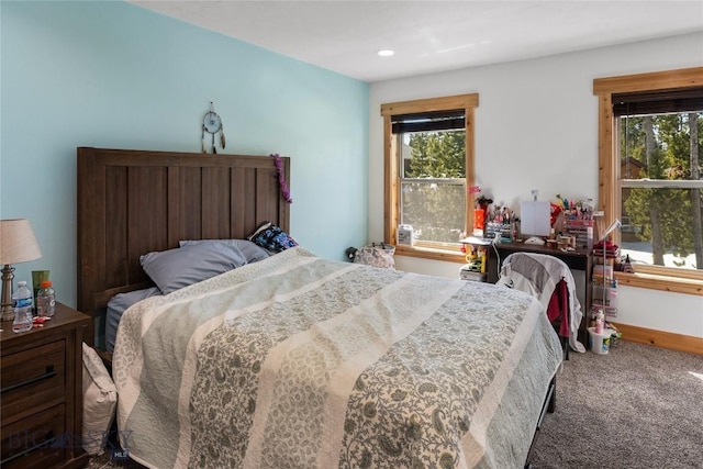
[[[64,434],[66,409],[56,405],[2,427],[3,469],[52,467],[64,460],[66,447],[79,443]]]

